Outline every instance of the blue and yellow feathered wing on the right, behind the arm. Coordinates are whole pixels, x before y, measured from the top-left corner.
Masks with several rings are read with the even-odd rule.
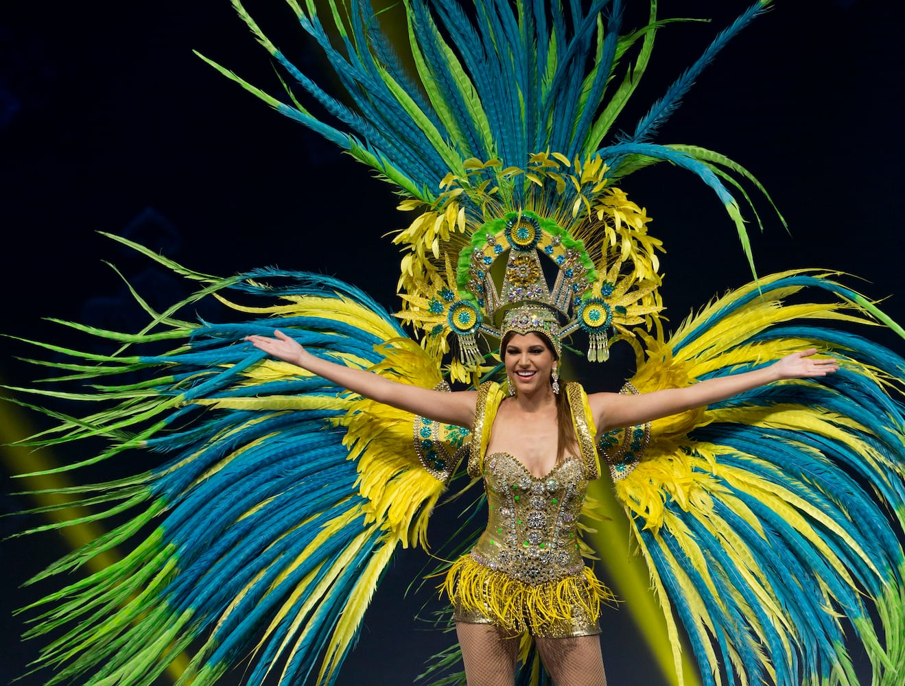
[[[905,360],[845,330],[876,313],[832,274],[786,272],[638,347],[641,392],[809,347],[841,365],[601,437],[673,644],[681,623],[706,683],[858,684],[850,630],[874,683],[905,674]]]

